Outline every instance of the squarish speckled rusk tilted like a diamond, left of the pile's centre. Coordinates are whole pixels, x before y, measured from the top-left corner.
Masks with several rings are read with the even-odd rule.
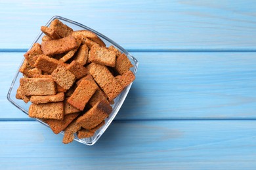
[[[75,75],[62,65],[58,65],[51,75],[53,80],[66,90],[70,89],[75,82]]]

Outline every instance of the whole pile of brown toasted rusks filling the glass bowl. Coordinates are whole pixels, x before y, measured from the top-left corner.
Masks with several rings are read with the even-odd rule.
[[[114,99],[135,75],[125,54],[88,30],[73,31],[53,20],[41,44],[24,54],[17,99],[31,101],[28,114],[64,131],[63,143],[93,137],[112,112]]]

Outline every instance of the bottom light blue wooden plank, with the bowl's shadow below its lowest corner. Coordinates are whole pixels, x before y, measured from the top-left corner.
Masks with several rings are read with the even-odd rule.
[[[255,121],[115,121],[94,146],[0,122],[4,169],[255,169]]]

